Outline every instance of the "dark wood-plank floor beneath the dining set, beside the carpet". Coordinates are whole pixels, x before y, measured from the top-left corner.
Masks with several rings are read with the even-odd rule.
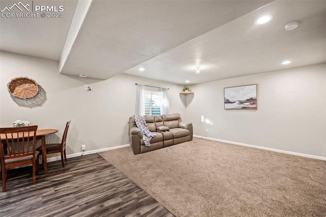
[[[0,216],[174,216],[98,154],[8,171]]]

